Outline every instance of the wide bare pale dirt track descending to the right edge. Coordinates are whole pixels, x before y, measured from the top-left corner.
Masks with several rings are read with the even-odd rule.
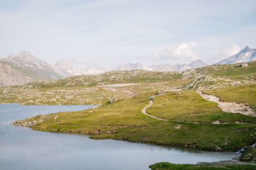
[[[243,115],[249,115],[256,117],[255,111],[250,108],[250,106],[246,106],[246,104],[240,103],[234,103],[234,102],[222,102],[220,101],[219,97],[212,96],[209,94],[202,94],[202,92],[198,92],[201,97],[206,99],[207,101],[213,101],[215,103],[218,103],[218,106],[225,112],[230,112],[230,113],[241,113]]]

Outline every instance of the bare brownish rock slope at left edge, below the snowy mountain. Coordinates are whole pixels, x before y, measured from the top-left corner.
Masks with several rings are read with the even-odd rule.
[[[33,79],[24,76],[10,65],[0,62],[0,86],[24,85],[29,81],[33,81]]]

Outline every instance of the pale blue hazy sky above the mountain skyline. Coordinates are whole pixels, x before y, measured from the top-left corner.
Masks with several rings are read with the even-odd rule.
[[[0,56],[21,50],[81,69],[213,64],[256,48],[256,1],[0,0]]]

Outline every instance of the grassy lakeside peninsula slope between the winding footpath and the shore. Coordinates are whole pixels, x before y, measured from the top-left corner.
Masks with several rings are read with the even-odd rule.
[[[197,97],[195,92],[184,93],[195,95],[195,99]],[[141,93],[116,103],[104,104],[95,109],[47,115],[44,122],[32,128],[39,131],[91,134],[93,139],[120,139],[157,145],[188,146],[203,150],[236,151],[255,142],[256,125],[253,123],[255,118],[250,120],[253,124],[215,125],[211,124],[211,118],[215,116],[220,120],[218,112],[211,113],[211,117],[204,113],[206,116],[203,117],[204,121],[200,124],[188,122],[190,117],[187,117],[186,122],[176,122],[175,120],[165,122],[143,115],[141,109],[149,103],[148,96],[150,94],[151,92]],[[188,98],[184,95],[180,96],[180,99],[175,99],[175,97],[173,99],[177,100],[175,102],[180,102],[180,99]],[[205,102],[200,108],[204,106],[211,108],[215,104]],[[180,107],[186,109],[186,105]],[[192,106],[191,110],[193,109],[196,110]],[[60,125],[54,121],[56,115],[58,115],[57,120]],[[234,116],[232,113],[227,113],[227,115]],[[223,118],[225,119],[224,116]],[[237,118],[246,121],[248,116],[239,115]],[[232,122],[231,120],[233,121],[234,118],[225,119],[225,121]],[[175,129],[174,127],[178,125],[180,125],[180,129]],[[100,131],[100,133],[96,135],[95,131]]]

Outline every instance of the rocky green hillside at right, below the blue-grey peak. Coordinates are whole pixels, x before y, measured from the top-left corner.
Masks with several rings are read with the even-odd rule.
[[[185,85],[187,90],[211,90],[220,87],[234,87],[256,84],[256,61],[248,62],[248,67],[241,64],[218,64],[185,71],[183,76],[197,79]]]

